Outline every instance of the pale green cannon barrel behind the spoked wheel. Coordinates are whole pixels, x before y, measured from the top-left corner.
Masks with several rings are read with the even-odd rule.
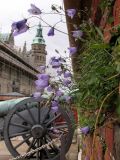
[[[12,100],[6,100],[6,101],[0,102],[0,117],[6,116],[8,112],[12,110],[17,103],[27,98],[28,97],[24,97],[24,98],[18,98],[18,99],[12,99]]]

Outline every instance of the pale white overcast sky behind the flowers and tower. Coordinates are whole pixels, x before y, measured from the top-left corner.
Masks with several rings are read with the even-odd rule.
[[[27,12],[30,9],[30,4],[35,4],[43,12],[50,12],[51,5],[63,5],[63,0],[0,0],[0,32],[8,33],[11,31],[11,24],[13,22],[28,18],[31,15]],[[61,18],[59,15],[41,15],[47,23],[53,26]],[[62,19],[65,21],[65,17],[62,16]],[[28,24],[30,26],[38,25],[39,20],[37,18],[30,18]],[[41,22],[43,26],[45,24]],[[57,29],[67,33],[67,28],[65,23],[59,23]],[[49,28],[43,27],[43,36],[46,42],[47,57],[53,56],[55,54],[55,49],[59,50],[61,55],[64,54],[64,51],[69,47],[68,36],[55,31],[55,36],[48,37]],[[24,42],[27,42],[28,50],[31,48],[31,43],[36,34],[36,27],[31,28],[24,34],[15,37],[15,44],[17,47],[23,46]]]

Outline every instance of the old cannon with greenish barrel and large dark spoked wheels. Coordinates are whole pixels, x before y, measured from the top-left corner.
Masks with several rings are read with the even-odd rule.
[[[74,133],[72,111],[62,104],[53,112],[46,101],[26,97],[0,102],[0,139],[13,157],[30,153],[26,159],[60,160],[69,150]],[[55,138],[59,141],[51,144]]]

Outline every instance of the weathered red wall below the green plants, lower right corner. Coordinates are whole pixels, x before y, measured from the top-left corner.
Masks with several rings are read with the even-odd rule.
[[[113,136],[114,136],[114,128],[112,124],[108,124],[106,125],[106,127],[98,129],[93,149],[94,160],[111,160],[111,155],[113,155],[113,146],[114,146]],[[88,156],[89,158],[91,157],[92,140],[93,140],[92,135],[84,137],[82,160],[84,160],[86,156]],[[106,145],[106,150],[103,150],[104,145]]]

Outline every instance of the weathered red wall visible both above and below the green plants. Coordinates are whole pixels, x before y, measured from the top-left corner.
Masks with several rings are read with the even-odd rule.
[[[95,21],[95,16],[96,12],[98,11],[98,4],[100,0],[93,0],[92,1],[92,14],[91,14],[91,19],[94,22]],[[110,30],[111,27],[117,26],[120,24],[120,0],[116,0],[114,8],[113,8],[113,17],[114,17],[114,23],[113,24],[108,24],[107,23],[107,12],[108,10],[106,9],[104,14],[102,15],[102,18],[100,20],[100,28],[104,29],[104,40],[109,42],[111,34]],[[96,136],[95,139],[95,147],[94,147],[94,160],[111,160],[111,156],[113,155],[113,147],[114,147],[114,125],[109,124],[106,127],[99,128],[98,129],[98,135]],[[107,146],[106,152],[103,154],[103,146],[100,137],[103,137],[105,140],[105,144]],[[89,145],[92,143],[92,135],[88,136],[88,138],[85,138],[84,140],[84,145],[86,148],[83,149],[83,157],[85,155],[89,156],[91,155],[91,146]],[[83,158],[84,159],[84,158]]]

